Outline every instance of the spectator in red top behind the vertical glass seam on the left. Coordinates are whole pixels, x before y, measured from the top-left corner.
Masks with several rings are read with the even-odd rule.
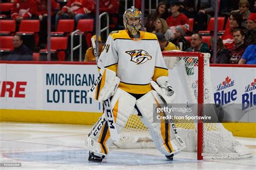
[[[47,0],[38,0],[37,1],[37,12],[36,15],[38,16],[40,23],[40,32],[39,32],[39,45],[42,48],[45,48],[47,42],[47,19],[48,19],[48,11],[47,11]],[[59,5],[56,3],[55,0],[51,0],[51,16],[55,15],[55,10],[59,8]]]

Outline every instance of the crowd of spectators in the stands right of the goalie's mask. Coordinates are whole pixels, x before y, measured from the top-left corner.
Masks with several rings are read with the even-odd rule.
[[[179,48],[181,46],[182,48],[180,49],[183,51],[199,51],[212,54],[214,18],[210,18],[214,15],[215,1],[191,2],[171,1],[169,3],[171,15],[165,19],[169,30],[156,31],[159,30],[159,27],[165,27],[164,21],[161,21],[161,26],[159,26],[159,20],[161,20],[161,16],[164,16],[164,10],[162,9],[166,9],[168,6],[165,2],[159,3],[157,10],[150,14],[150,16],[159,17],[154,17],[156,19],[153,17],[148,18],[146,30],[151,31],[154,29],[154,31],[151,31],[152,33],[163,33],[167,41],[171,41],[173,45]],[[229,2],[230,4],[235,3],[235,1],[231,0]],[[253,13],[255,12],[256,2],[240,0],[237,4],[237,8],[234,8],[233,4],[231,8],[223,6],[223,8],[220,7],[219,9],[221,11],[219,12],[219,18],[223,18],[223,23],[218,23],[220,26],[218,26],[217,58],[215,61],[211,58],[212,63],[242,63],[239,61],[246,57],[243,54],[246,48],[250,46],[252,52],[251,61],[245,63],[256,64],[256,44],[255,40],[252,39],[252,37],[255,37],[256,31],[256,13]],[[220,5],[223,5],[223,1],[220,1]],[[193,17],[194,19],[192,31],[188,27],[188,25],[192,26],[188,17]],[[224,24],[225,21],[226,24]],[[209,28],[210,25],[212,28]],[[171,35],[171,38],[168,39],[166,34]],[[164,48],[162,49],[165,51]]]

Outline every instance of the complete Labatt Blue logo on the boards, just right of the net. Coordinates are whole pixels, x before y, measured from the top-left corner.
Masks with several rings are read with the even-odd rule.
[[[225,81],[217,86],[217,92],[214,93],[214,101],[217,107],[235,101],[237,99],[237,90],[227,91],[224,89],[234,86],[234,80],[231,81],[230,77],[226,77]]]

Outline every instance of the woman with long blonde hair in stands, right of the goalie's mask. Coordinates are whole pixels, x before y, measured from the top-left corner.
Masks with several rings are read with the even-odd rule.
[[[166,40],[170,40],[173,32],[169,29],[166,21],[163,18],[156,19],[156,24],[154,25],[154,31],[152,33],[161,32],[164,34]]]

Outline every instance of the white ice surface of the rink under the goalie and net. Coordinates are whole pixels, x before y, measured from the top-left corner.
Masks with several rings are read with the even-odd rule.
[[[39,123],[0,123],[0,162],[22,167],[0,169],[256,169],[256,139],[236,138],[253,157],[241,160],[196,159],[181,152],[172,162],[156,149],[115,149],[102,163],[87,161],[85,138],[91,126]]]

